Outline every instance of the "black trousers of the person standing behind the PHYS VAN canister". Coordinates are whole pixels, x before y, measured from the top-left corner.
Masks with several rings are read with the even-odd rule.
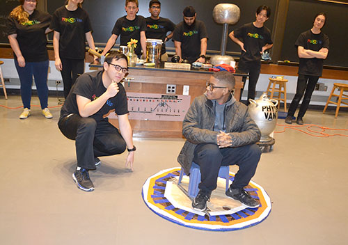
[[[246,105],[250,104],[249,99],[255,100],[255,91],[256,84],[258,83],[258,79],[260,77],[260,62],[253,63],[241,63],[237,69],[237,73],[248,73],[249,74],[249,84],[248,84],[248,99],[246,100]],[[246,83],[246,77],[242,78],[243,88],[240,93],[239,101],[242,98],[242,93],[244,90],[244,86]]]

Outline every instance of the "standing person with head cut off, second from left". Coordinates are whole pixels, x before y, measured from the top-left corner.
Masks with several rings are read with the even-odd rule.
[[[62,75],[65,98],[79,74],[84,73],[86,40],[90,49],[95,50],[90,19],[81,6],[83,1],[66,1],[65,6],[54,12],[49,26],[54,30],[55,65]]]

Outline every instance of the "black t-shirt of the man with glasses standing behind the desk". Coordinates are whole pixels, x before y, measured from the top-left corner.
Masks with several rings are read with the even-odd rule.
[[[159,17],[159,19],[152,19],[147,17],[146,21],[146,38],[161,39],[163,41],[161,54],[166,53],[166,39],[168,31],[174,31],[175,24],[170,19]]]

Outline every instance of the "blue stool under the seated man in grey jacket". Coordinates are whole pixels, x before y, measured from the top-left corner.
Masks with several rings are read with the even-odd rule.
[[[180,184],[182,181],[182,177],[184,176],[184,168],[181,168],[179,181],[177,184]],[[229,180],[230,180],[230,166],[221,166],[219,170],[219,177],[223,177],[226,179],[226,191],[230,187]],[[192,162],[191,168],[190,168],[190,180],[189,180],[189,196],[191,198],[196,198],[198,194],[198,184],[200,183],[200,166],[194,162]]]

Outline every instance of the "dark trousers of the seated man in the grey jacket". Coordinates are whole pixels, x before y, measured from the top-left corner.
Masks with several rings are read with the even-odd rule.
[[[231,188],[243,188],[248,185],[260,161],[261,151],[258,145],[244,145],[237,148],[219,148],[216,144],[196,145],[193,161],[200,166],[200,184],[198,188],[211,193],[216,189],[220,166],[238,165],[239,171]]]

